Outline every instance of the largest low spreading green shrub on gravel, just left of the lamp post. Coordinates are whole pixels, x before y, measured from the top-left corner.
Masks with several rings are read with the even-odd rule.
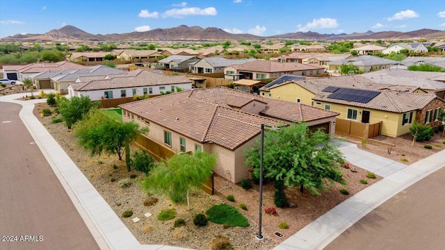
[[[238,209],[229,204],[215,205],[206,211],[209,221],[216,224],[229,224],[229,226],[249,226],[248,219],[239,213]]]

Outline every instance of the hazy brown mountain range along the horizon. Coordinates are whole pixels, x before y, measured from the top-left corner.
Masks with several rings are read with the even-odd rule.
[[[1,40],[28,40],[28,41],[130,41],[130,40],[261,40],[261,39],[291,39],[291,40],[408,40],[408,39],[432,39],[444,38],[445,31],[423,28],[417,31],[399,32],[382,31],[366,33],[341,33],[341,34],[320,34],[312,31],[285,33],[261,37],[251,34],[232,34],[220,28],[181,25],[174,28],[155,28],[151,31],[113,33],[113,34],[90,34],[74,26],[63,26],[63,28],[53,29],[44,34],[17,34],[2,38]]]

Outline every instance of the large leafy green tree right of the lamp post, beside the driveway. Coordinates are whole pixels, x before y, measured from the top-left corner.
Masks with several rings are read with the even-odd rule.
[[[245,163],[254,167],[259,177],[260,142],[246,149]],[[325,188],[325,180],[341,181],[339,164],[345,162],[337,144],[321,130],[309,131],[307,124],[291,124],[279,131],[267,131],[264,137],[264,176],[284,181],[287,188],[300,186],[318,195]]]

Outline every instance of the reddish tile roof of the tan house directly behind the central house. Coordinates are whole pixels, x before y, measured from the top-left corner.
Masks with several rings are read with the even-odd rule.
[[[232,65],[234,69],[250,72],[295,72],[304,70],[325,70],[324,67],[302,63],[277,63],[271,60],[255,60],[242,65]]]

